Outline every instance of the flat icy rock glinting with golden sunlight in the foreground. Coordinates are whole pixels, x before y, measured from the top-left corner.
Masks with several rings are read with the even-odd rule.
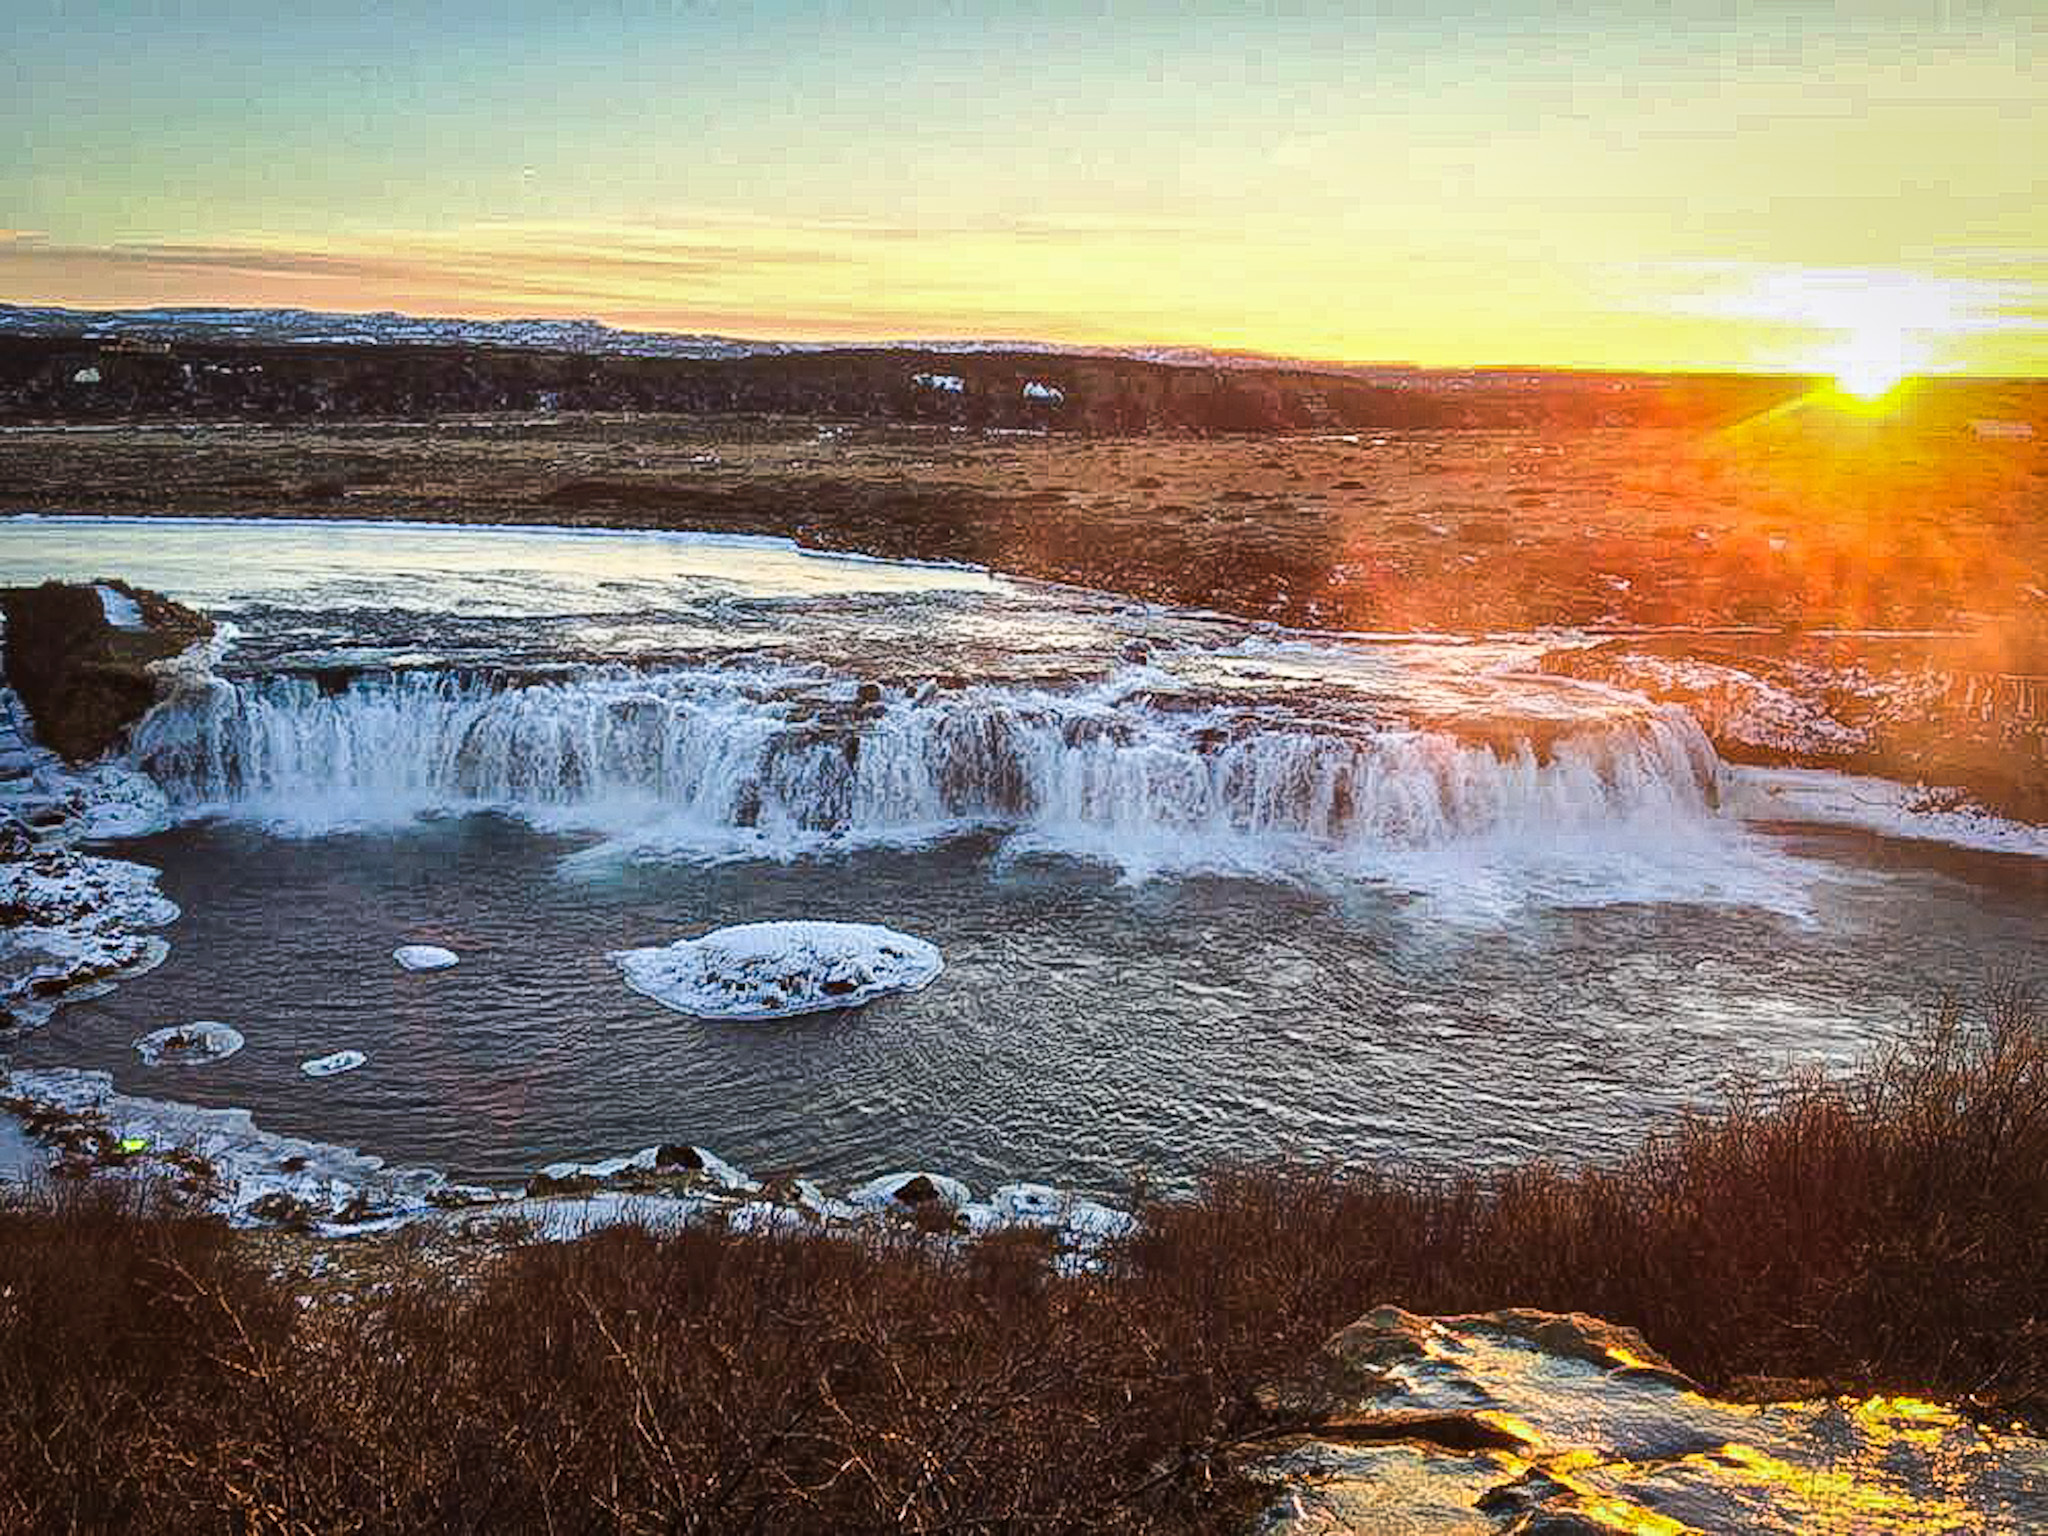
[[[1720,1403],[1632,1329],[1382,1307],[1268,1395],[1262,1536],[2048,1530],[2048,1442],[1913,1399]]]

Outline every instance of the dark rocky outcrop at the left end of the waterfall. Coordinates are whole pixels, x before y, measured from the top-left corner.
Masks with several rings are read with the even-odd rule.
[[[213,635],[213,621],[125,582],[0,590],[6,682],[43,745],[72,762],[115,748],[158,698],[156,662]]]

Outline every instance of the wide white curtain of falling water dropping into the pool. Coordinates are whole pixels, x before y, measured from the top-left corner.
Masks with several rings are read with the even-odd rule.
[[[1065,692],[788,668],[209,680],[143,723],[133,758],[182,813],[334,825],[502,809],[774,856],[993,825],[1202,864],[1260,844],[1341,858],[1714,815],[1714,752],[1677,711],[1589,711],[1538,750],[1161,696],[1161,682],[1147,668]]]

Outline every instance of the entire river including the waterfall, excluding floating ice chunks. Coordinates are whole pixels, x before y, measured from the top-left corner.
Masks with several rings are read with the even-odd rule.
[[[2038,975],[2044,864],[1757,825],[1556,641],[1329,639],[772,541],[0,524],[236,629],[131,762],[184,907],[25,1065],[514,1178],[688,1139],[1110,1190],[1217,1157],[1599,1155],[1733,1069]],[[1737,797],[1739,799],[1739,797]],[[772,918],[930,989],[707,1024],[606,950]],[[399,942],[463,954],[397,973]],[[199,1071],[127,1042],[221,1018]],[[297,1063],[362,1049],[309,1081]]]

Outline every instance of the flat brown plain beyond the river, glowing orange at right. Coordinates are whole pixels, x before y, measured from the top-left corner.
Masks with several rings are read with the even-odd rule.
[[[0,430],[0,510],[762,532],[1311,629],[1610,631],[1626,639],[1597,676],[1645,686],[1632,666],[1655,653],[1784,686],[1790,666],[1866,737],[1815,754],[1716,729],[1737,756],[1921,778],[2048,819],[2048,387],[1929,385],[1890,414],[1815,395],[1677,426],[1538,414],[1221,436],[74,414]],[[1690,635],[1642,633],[1663,629]],[[1872,702],[1907,694],[1909,717]]]

